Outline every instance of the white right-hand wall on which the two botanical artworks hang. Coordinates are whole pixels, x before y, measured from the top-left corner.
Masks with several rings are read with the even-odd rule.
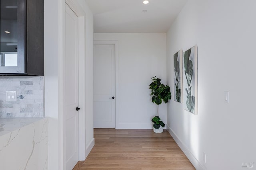
[[[198,115],[173,99],[167,106],[170,133],[197,169],[256,162],[255,7],[255,0],[190,0],[167,33],[168,84],[174,53],[198,45]]]

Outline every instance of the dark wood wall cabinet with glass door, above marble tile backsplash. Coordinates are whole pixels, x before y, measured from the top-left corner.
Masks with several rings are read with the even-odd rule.
[[[0,3],[0,75],[44,75],[44,0]]]

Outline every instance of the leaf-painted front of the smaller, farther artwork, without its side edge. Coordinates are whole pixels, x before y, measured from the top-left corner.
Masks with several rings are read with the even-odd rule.
[[[181,103],[181,82],[180,82],[180,79],[181,79],[181,70],[180,70],[180,60],[181,60],[181,57],[180,55],[182,54],[182,51],[178,51],[177,53],[175,53],[173,55],[174,57],[174,101],[176,102],[180,102]]]

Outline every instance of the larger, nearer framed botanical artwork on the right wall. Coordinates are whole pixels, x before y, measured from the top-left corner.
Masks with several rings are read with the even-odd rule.
[[[183,108],[198,114],[197,95],[197,46],[183,53]]]

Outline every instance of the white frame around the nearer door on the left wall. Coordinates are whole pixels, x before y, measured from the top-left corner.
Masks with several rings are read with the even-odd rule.
[[[86,75],[86,61],[85,61],[85,55],[86,55],[86,39],[85,39],[85,29],[86,29],[86,13],[82,9],[82,7],[78,4],[78,2],[73,1],[73,0],[65,0],[63,3],[62,9],[63,10],[63,16],[65,16],[65,6],[66,4],[73,10],[73,12],[78,16],[78,105],[81,108],[79,110],[79,160],[85,160],[86,158],[86,128],[85,128],[85,122],[86,122],[86,100],[85,100],[85,90],[86,90],[86,83],[85,83],[85,75]],[[62,92],[62,97],[60,99],[59,103],[59,109],[60,109],[60,156],[62,156],[60,164],[63,166],[63,170],[66,170],[66,92],[65,92],[65,65],[66,65],[66,60],[65,60],[65,42],[66,42],[66,19],[63,17],[63,23],[62,23],[62,64],[61,64],[61,74],[62,76],[59,77],[59,81],[62,82],[62,89],[60,91]],[[61,114],[62,113],[62,114]]]

